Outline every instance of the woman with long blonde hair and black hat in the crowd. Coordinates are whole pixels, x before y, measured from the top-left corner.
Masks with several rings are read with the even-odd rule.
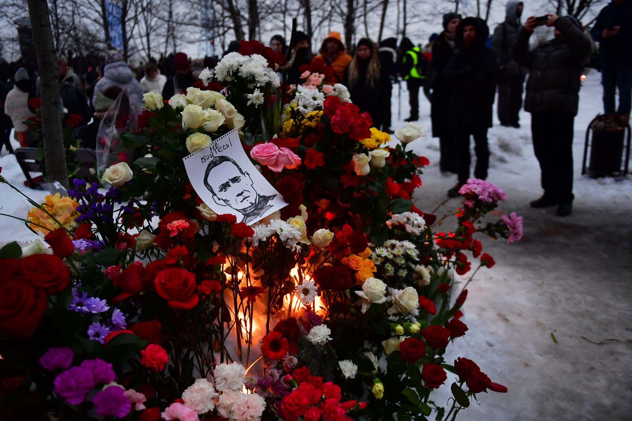
[[[356,45],[353,60],[347,68],[345,85],[349,88],[351,101],[367,111],[374,122],[379,121],[380,60],[377,45],[363,38]]]

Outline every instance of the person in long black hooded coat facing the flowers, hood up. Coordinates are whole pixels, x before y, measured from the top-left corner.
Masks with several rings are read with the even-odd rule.
[[[448,123],[453,130],[458,182],[448,196],[458,191],[470,177],[470,135],[474,137],[476,167],[474,176],[487,178],[489,149],[487,129],[492,127],[492,104],[498,68],[496,54],[485,47],[489,28],[480,18],[465,18],[456,30],[459,52],[444,70],[444,79],[451,85]],[[433,94],[434,97],[434,94]]]

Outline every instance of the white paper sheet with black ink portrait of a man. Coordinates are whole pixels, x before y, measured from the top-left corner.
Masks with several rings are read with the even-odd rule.
[[[288,205],[250,162],[236,130],[184,160],[195,192],[218,215],[252,225]]]

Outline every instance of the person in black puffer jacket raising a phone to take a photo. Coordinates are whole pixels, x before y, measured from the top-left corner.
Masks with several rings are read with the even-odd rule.
[[[535,28],[531,16],[518,34],[514,59],[529,68],[525,111],[532,113],[533,150],[542,169],[544,196],[533,208],[559,205],[557,215],[573,210],[573,123],[580,100],[581,71],[590,57],[592,43],[573,16],[548,15],[555,39],[529,50]]]

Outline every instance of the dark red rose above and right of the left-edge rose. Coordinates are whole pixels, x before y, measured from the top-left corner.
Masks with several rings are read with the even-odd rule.
[[[70,281],[70,269],[54,254],[33,254],[20,260],[22,274],[46,294],[59,294]]]

